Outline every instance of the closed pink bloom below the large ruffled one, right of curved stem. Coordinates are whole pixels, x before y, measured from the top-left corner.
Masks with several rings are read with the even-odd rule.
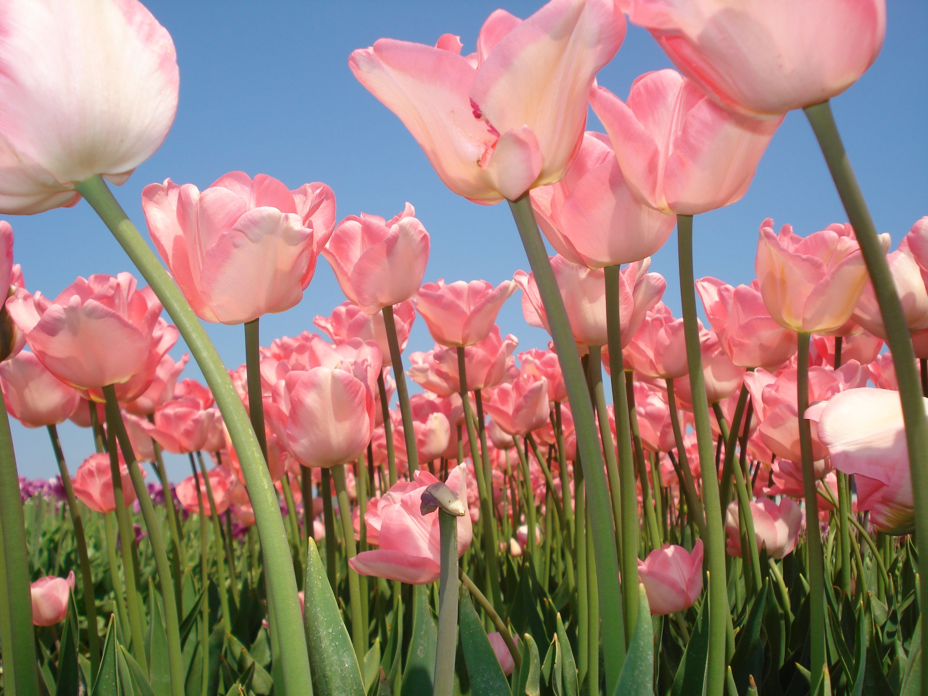
[[[270,396],[264,397],[271,429],[307,467],[334,467],[363,454],[380,406],[377,343],[353,339],[327,346],[314,342],[305,362],[277,363]]]

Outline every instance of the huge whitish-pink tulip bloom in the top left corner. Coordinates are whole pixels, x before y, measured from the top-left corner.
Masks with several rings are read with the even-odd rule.
[[[0,213],[73,205],[96,174],[122,184],[177,110],[171,35],[136,0],[13,0],[0,32]]]

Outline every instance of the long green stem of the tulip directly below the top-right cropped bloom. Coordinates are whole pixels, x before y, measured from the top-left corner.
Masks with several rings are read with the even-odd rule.
[[[725,689],[725,626],[729,617],[728,589],[725,580],[725,531],[722,527],[722,510],[718,498],[718,473],[713,456],[709,402],[705,395],[705,378],[702,374],[702,350],[693,281],[692,224],[692,215],[677,215],[680,301],[683,308],[687,362],[690,367],[690,391],[693,417],[696,422],[696,441],[699,445],[700,468],[702,469],[702,507],[705,512],[706,528],[703,542],[706,566],[710,572],[709,657],[706,663],[705,693],[707,696],[721,696]]]

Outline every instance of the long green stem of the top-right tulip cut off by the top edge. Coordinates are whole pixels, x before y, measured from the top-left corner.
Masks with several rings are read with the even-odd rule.
[[[870,280],[886,328],[886,342],[893,354],[896,378],[899,383],[899,400],[906,423],[906,444],[909,447],[909,470],[915,505],[915,543],[920,558],[928,555],[924,544],[928,540],[928,419],[925,419],[924,402],[918,373],[915,369],[915,352],[909,337],[909,326],[896,292],[896,283],[886,263],[886,254],[877,236],[876,226],[857,177],[844,151],[841,135],[831,113],[831,104],[825,101],[806,107],[806,117],[818,138],[822,154],[831,171],[831,178],[844,203],[847,219],[854,227],[860,251],[870,272]],[[928,597],[928,573],[920,576],[922,596]],[[922,621],[922,645],[928,645],[928,621]],[[926,653],[928,654],[928,653]],[[922,695],[928,695],[928,658],[922,660]]]

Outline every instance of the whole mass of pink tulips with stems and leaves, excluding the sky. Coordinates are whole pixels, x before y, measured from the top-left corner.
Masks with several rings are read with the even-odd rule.
[[[622,100],[595,78],[626,14],[679,72]],[[337,222],[325,184],[264,174],[146,187],[159,260],[107,182],[174,120],[170,35],[136,0],[7,0],[0,213],[83,198],[148,285],[45,297],[0,222],[0,410],[60,471],[19,478],[5,415],[4,693],[928,694],[928,217],[889,251],[829,106],[884,29],[883,0],[551,0],[496,10],[468,55],[354,51],[528,257],[423,284],[412,205]],[[695,279],[694,215],[741,199],[796,109],[849,224],[764,220],[750,285]],[[682,317],[651,271],[675,226]],[[262,345],[319,254],[346,298],[326,337]],[[517,290],[548,347],[496,325]],[[435,346],[404,355],[417,316]],[[201,321],[243,325],[246,363]],[[73,475],[67,419],[90,431]]]

